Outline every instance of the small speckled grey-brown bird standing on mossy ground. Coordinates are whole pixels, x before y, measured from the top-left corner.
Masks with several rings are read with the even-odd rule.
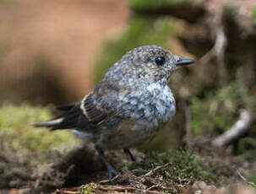
[[[155,137],[175,115],[168,86],[172,73],[193,62],[161,46],[134,48],[110,67],[83,100],[57,107],[63,115],[35,127],[69,129],[94,143],[111,180],[120,171],[108,162],[105,150],[123,149],[134,160],[129,148]]]

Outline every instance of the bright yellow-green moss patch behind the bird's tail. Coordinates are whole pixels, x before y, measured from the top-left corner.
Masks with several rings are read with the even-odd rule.
[[[52,117],[51,106],[3,105],[0,109],[0,139],[14,151],[35,153],[50,148],[63,150],[74,144],[74,135],[67,131],[49,132],[33,124]]]

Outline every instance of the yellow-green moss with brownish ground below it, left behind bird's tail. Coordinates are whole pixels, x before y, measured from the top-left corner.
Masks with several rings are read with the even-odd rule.
[[[0,188],[26,184],[25,177],[33,175],[35,166],[55,161],[77,143],[70,132],[50,132],[33,126],[49,120],[51,110],[51,106],[28,104],[1,106]],[[25,176],[20,178],[18,174]]]

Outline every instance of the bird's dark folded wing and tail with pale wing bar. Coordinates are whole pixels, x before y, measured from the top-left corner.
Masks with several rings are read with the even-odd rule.
[[[36,127],[56,129],[78,129],[88,131],[99,127],[105,121],[117,115],[117,89],[101,82],[84,100],[74,105],[61,106],[65,110],[62,116],[52,121],[36,124]]]

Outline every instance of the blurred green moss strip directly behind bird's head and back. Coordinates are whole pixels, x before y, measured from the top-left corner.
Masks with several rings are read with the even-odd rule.
[[[136,17],[130,21],[128,29],[117,40],[110,40],[103,46],[99,61],[96,62],[96,82],[103,78],[109,67],[117,62],[127,51],[143,45],[166,46],[172,36],[170,19],[148,19]]]

